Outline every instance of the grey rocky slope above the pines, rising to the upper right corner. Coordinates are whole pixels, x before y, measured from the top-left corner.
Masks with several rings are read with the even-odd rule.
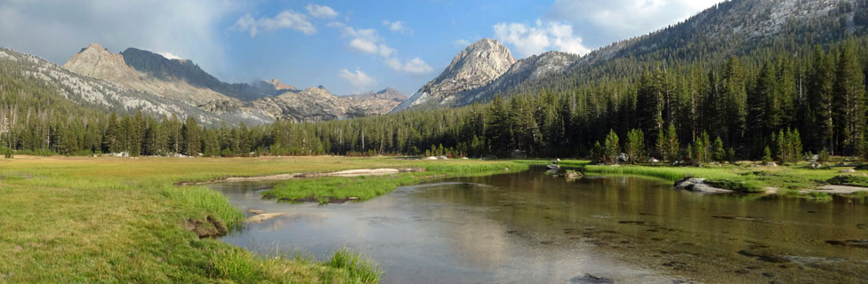
[[[511,96],[542,89],[569,91],[607,80],[634,83],[648,67],[716,65],[771,48],[798,51],[865,35],[866,27],[868,3],[862,0],[727,1],[677,25],[591,51],[562,72],[495,92]]]

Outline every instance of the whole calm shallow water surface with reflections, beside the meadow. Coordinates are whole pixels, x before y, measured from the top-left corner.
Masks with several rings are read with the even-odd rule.
[[[288,213],[223,241],[317,257],[354,248],[382,265],[384,283],[868,282],[868,248],[826,242],[868,239],[868,206],[846,199],[699,195],[536,170],[325,206],[261,200],[270,185],[210,185],[241,209]]]

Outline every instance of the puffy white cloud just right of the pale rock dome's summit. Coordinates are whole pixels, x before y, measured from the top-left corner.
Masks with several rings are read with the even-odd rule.
[[[494,25],[494,37],[503,43],[515,46],[521,57],[547,50],[581,55],[591,51],[582,44],[581,37],[573,34],[573,26],[567,23],[543,24],[541,20],[536,20],[534,26],[523,23],[499,23]]]

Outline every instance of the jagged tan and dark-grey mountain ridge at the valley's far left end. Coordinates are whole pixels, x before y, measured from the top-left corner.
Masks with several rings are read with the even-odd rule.
[[[274,119],[319,121],[385,114],[406,99],[387,89],[370,96],[344,98],[319,86],[298,90],[273,79],[270,82],[224,83],[187,59],[167,59],[160,54],[129,48],[113,54],[92,43],[63,65],[78,75],[170,99],[173,104],[194,107],[207,114],[256,114],[265,122]]]

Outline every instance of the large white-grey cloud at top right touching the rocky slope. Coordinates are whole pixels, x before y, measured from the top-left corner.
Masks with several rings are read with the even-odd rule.
[[[544,19],[582,27],[584,38],[604,45],[687,20],[719,2],[722,0],[555,0]]]

